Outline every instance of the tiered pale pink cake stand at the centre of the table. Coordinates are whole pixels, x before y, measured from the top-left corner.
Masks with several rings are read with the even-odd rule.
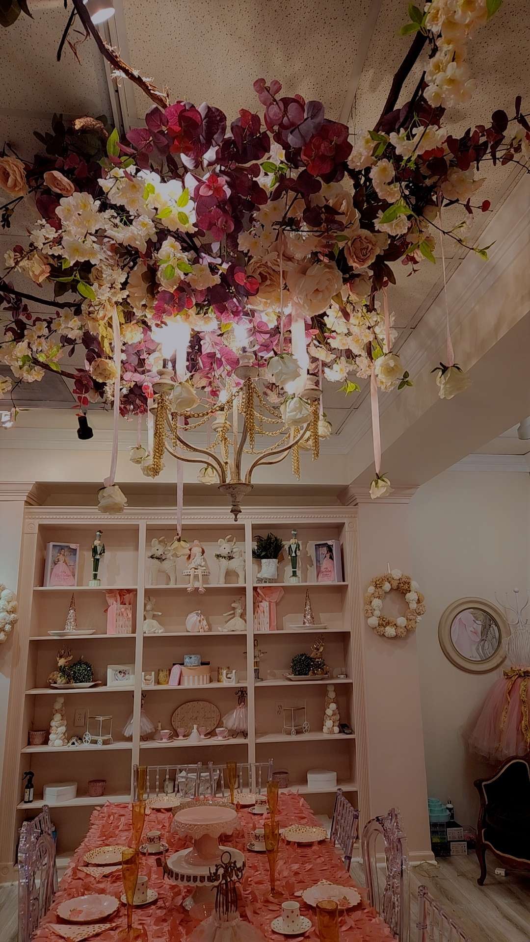
[[[218,881],[212,879],[210,870],[220,863],[222,853],[227,851],[239,867],[244,867],[244,855],[240,851],[219,843],[219,837],[232,834],[237,823],[234,808],[206,802],[193,802],[174,815],[172,831],[192,837],[193,847],[173,853],[164,860],[163,867],[175,883],[194,888],[184,905],[186,909],[193,909],[197,916],[206,918],[213,912]]]

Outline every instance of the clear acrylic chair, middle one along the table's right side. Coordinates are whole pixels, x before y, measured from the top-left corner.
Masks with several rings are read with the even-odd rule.
[[[377,844],[385,851],[384,885],[379,882]],[[410,922],[410,885],[406,836],[397,808],[388,815],[369,820],[361,835],[361,853],[370,905],[389,925],[399,942],[408,942]]]

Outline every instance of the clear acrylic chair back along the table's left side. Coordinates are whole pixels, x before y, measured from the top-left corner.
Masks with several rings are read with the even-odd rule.
[[[50,810],[24,821],[19,831],[19,942],[29,942],[47,913],[57,889],[56,843],[52,837]]]

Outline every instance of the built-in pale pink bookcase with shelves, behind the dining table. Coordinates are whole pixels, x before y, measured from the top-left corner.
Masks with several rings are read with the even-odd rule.
[[[160,508],[127,509],[122,517],[107,520],[87,508],[27,508],[23,541],[23,565],[19,584],[20,658],[17,674],[11,682],[9,706],[12,722],[8,723],[7,763],[3,795],[8,806],[6,816],[9,827],[4,828],[0,842],[0,860],[13,859],[18,827],[28,815],[37,812],[41,797],[32,804],[24,804],[21,787],[22,774],[31,769],[35,774],[36,794],[49,782],[70,780],[78,783],[79,796],[71,801],[52,806],[58,826],[58,853],[75,849],[86,829],[91,810],[105,802],[125,802],[130,797],[133,765],[140,762],[163,764],[164,761],[207,762],[211,758],[225,762],[267,761],[273,759],[274,769],[287,769],[290,788],[307,796],[319,812],[330,814],[333,790],[315,790],[307,787],[306,772],[313,767],[337,772],[338,783],[361,808],[368,806],[368,777],[363,768],[366,761],[366,729],[364,725],[364,693],[356,684],[356,664],[360,628],[356,621],[352,586],[355,584],[355,550],[352,520],[355,508],[321,507],[292,511],[278,507],[267,512],[254,512],[245,508],[237,525],[228,509],[201,506],[187,508],[184,514],[184,535],[198,537],[205,545],[211,582],[206,582],[206,593],[188,593],[183,577],[185,560],[177,562],[176,585],[151,585],[147,564],[147,551],[151,540],[174,537],[174,512]],[[292,522],[290,520],[292,517]],[[277,630],[257,631],[254,626],[256,590],[267,584],[257,582],[258,561],[252,557],[252,543],[264,528],[279,535],[284,543],[290,539],[290,530],[298,529],[298,539],[304,547],[300,559],[302,581],[290,583],[290,561],[280,562],[278,581],[274,586],[283,590],[277,603]],[[87,583],[91,578],[91,541],[96,528],[103,529],[106,555],[102,563],[105,585],[91,588],[87,584],[76,586],[42,586],[46,544],[67,542],[79,544],[77,581]],[[230,581],[220,584],[215,552],[218,540],[225,534],[236,536],[246,567],[243,585]],[[337,540],[343,556],[344,579],[340,582],[316,582],[310,562],[312,541]],[[159,576],[163,581],[165,577]],[[230,576],[233,578],[233,575]],[[118,589],[133,594],[132,633],[107,635],[106,593]],[[310,593],[315,615],[315,626],[301,625],[306,591]],[[50,629],[64,625],[71,594],[75,594],[79,629],[95,628],[91,635],[77,634],[71,638],[53,638]],[[163,626],[160,634],[143,634],[144,601],[151,596],[157,620]],[[257,597],[257,596],[256,596]],[[224,632],[224,609],[230,609],[233,600],[242,599],[246,631]],[[204,634],[186,630],[186,618],[194,609],[200,609],[207,618],[210,631]],[[320,628],[321,623],[325,628]],[[329,664],[328,678],[311,681],[290,681],[282,676],[290,670],[291,658],[309,652],[315,637],[322,634],[324,658]],[[299,636],[299,637],[297,637]],[[254,643],[260,649],[259,671],[263,680],[254,673]],[[101,642],[101,643],[100,643]],[[56,667],[58,648],[69,647],[75,658],[85,656],[91,661],[99,687],[51,689],[44,686],[48,674]],[[157,677],[160,668],[171,668],[182,662],[184,654],[198,653],[209,660],[212,682],[197,687],[149,686],[142,682],[142,672]],[[106,683],[108,664],[134,664],[134,683],[124,687],[109,687]],[[218,667],[238,671],[237,684],[224,684],[217,680]],[[343,673],[346,677],[334,677]],[[352,736],[328,736],[322,732],[324,696],[327,684],[335,685],[340,709],[340,721],[350,723],[356,731]],[[248,735],[236,739],[202,739],[190,743],[187,739],[161,742],[141,739],[141,701],[151,721],[171,728],[174,709],[186,700],[207,700],[214,703],[223,717],[237,706],[236,692],[246,690],[248,708]],[[261,693],[257,692],[261,690]],[[360,691],[360,692],[359,692]],[[111,715],[113,719],[110,745],[95,742],[78,747],[30,746],[28,729],[48,729],[54,698],[65,694],[65,709],[69,737],[82,737],[84,722],[89,714]],[[66,696],[67,694],[67,696]],[[87,696],[90,694],[90,698]],[[306,707],[310,731],[290,736],[282,732],[283,709]],[[122,732],[132,714],[132,739],[123,738]],[[76,718],[76,719],[75,719]],[[74,723],[75,720],[75,723]],[[309,745],[310,744],[310,745]],[[306,748],[303,748],[306,745]],[[309,745],[309,748],[307,748]],[[184,753],[180,752],[184,750]],[[363,751],[364,750],[364,751]],[[106,778],[107,794],[91,798],[87,794],[91,778]],[[6,788],[8,783],[8,788]],[[11,811],[9,811],[9,808]],[[12,826],[11,826],[12,823]],[[70,846],[71,845],[71,846]]]

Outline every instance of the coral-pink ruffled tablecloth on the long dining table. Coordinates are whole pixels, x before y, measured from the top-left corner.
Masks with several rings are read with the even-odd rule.
[[[294,792],[284,792],[280,795],[277,817],[280,827],[287,827],[294,823],[318,825],[308,804]],[[170,831],[171,823],[172,816],[169,811],[149,809],[144,827],[144,833],[154,829],[162,832],[162,836],[165,836],[170,847],[169,854],[190,846],[190,841]],[[241,918],[247,918],[252,922],[265,938],[275,939],[278,942],[286,936],[273,933],[271,929],[271,921],[280,915],[281,901],[276,902],[268,898],[270,883],[267,855],[246,850],[250,832],[261,825],[262,819],[257,815],[251,815],[244,810],[240,811],[240,829],[227,838],[225,844],[238,848],[246,858],[246,869],[240,893]],[[60,921],[56,915],[60,902],[86,893],[108,893],[117,898],[122,895],[124,887],[121,869],[107,877],[96,878],[79,868],[83,866],[85,853],[92,848],[103,847],[107,844],[126,845],[130,842],[130,837],[130,804],[105,804],[93,811],[88,834],[75,852],[69,868],[60,881],[52,908],[42,919],[41,926],[34,936],[36,942],[58,942],[58,936],[47,927],[47,924]],[[190,895],[190,888],[181,887],[163,879],[162,871],[157,869],[155,856],[141,857],[140,872],[148,877],[149,885],[157,890],[158,899],[152,905],[135,908],[133,925],[144,930],[144,937],[146,940],[149,939],[149,942],[186,940],[197,926],[196,920],[191,918],[182,906],[182,901]],[[301,913],[313,922],[313,928],[305,936],[311,942],[318,939],[315,911],[294,894],[320,880],[329,880],[344,886],[356,886],[346,873],[339,854],[328,840],[306,847],[287,844],[282,840],[276,866],[276,887],[285,892],[286,900],[300,900]],[[365,891],[360,889],[360,893],[362,901],[358,906],[340,916],[341,940],[343,942],[387,942],[392,939],[389,927],[366,903]],[[95,936],[96,940],[115,942],[119,930],[126,925],[124,905],[120,905],[117,915],[111,921],[112,928],[109,928],[108,932]]]

